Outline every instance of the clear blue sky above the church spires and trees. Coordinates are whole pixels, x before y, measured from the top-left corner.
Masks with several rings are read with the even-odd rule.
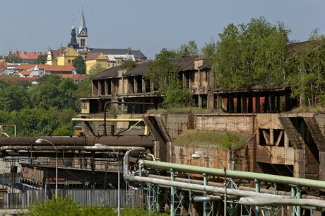
[[[81,7],[90,47],[140,48],[149,58],[188,40],[202,47],[218,40],[228,23],[259,16],[285,23],[290,40],[307,40],[314,28],[325,33],[325,0],[0,0],[0,55],[67,45]]]

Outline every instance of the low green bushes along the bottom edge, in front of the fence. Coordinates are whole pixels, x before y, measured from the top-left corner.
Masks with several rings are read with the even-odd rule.
[[[47,200],[47,202],[40,202],[30,205],[27,212],[19,212],[18,216],[115,216],[117,209],[111,207],[83,207],[81,208],[78,203],[73,202],[68,196],[66,198],[57,198],[57,200]],[[132,216],[167,216],[165,213],[151,213],[149,214],[145,209],[137,208],[123,208],[122,215]]]

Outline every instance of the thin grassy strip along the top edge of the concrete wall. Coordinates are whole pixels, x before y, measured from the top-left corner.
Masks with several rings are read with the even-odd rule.
[[[182,108],[158,108],[147,110],[148,114],[162,114],[162,113],[225,113],[223,110],[208,110],[200,107],[182,107]]]

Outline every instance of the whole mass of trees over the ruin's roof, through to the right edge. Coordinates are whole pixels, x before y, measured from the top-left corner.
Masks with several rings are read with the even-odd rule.
[[[325,35],[312,31],[309,42],[290,43],[290,30],[266,18],[227,25],[220,41],[203,47],[217,89],[249,89],[255,84],[290,84],[300,106],[325,104]]]

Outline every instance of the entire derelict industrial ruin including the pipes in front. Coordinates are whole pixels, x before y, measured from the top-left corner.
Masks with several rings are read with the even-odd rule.
[[[78,136],[0,137],[1,158],[13,173],[21,166],[8,185],[30,203],[61,193],[173,216],[324,215],[325,113],[290,112],[297,100],[286,84],[214,89],[203,57],[173,64],[191,106],[223,112],[146,113],[163,99],[144,77],[148,62],[106,69],[81,98]],[[13,194],[4,193],[3,208],[28,205]]]

